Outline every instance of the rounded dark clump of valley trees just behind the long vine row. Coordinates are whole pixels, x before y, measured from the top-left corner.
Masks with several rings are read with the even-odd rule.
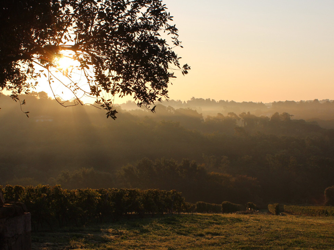
[[[129,188],[170,190],[181,192],[188,202],[197,201],[220,204],[223,200],[244,203],[260,200],[260,186],[256,178],[246,175],[229,175],[208,172],[195,161],[183,159],[149,160],[144,158],[128,164],[118,172],[122,186]]]

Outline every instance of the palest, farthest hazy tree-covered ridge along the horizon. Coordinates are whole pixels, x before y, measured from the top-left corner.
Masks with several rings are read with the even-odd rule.
[[[319,124],[325,128],[334,128],[334,101],[333,100],[308,100],[308,101],[279,101],[272,103],[262,102],[235,102],[228,100],[203,99],[192,97],[188,101],[168,100],[163,101],[162,105],[173,109],[192,109],[198,113],[207,115],[215,115],[222,113],[227,115],[230,112],[240,114],[242,112],[251,112],[257,116],[271,116],[276,112],[294,114],[296,119],[305,119],[308,121],[318,120]],[[126,110],[137,109],[134,102],[128,101],[121,104]]]

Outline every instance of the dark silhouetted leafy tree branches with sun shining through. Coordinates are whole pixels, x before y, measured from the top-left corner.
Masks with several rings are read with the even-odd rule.
[[[89,85],[80,90],[71,80],[73,69],[59,70],[71,81],[66,87],[97,98],[114,119],[112,100],[103,93],[132,95],[150,108],[168,98],[173,70],[189,70],[173,51],[182,46],[161,0],[8,0],[0,6],[0,90],[11,91],[14,100],[43,75],[50,85],[59,80],[51,69],[63,55],[77,63],[73,68]]]

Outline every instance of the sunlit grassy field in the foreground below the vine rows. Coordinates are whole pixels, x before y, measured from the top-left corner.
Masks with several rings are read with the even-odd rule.
[[[34,250],[334,249],[334,217],[181,214],[32,232]]]

